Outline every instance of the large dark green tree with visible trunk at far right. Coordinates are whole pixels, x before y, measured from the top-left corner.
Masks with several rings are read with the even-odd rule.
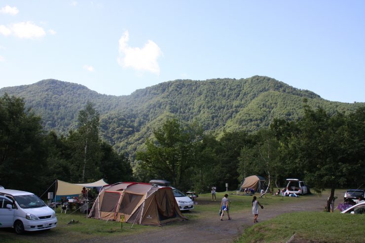
[[[298,170],[316,191],[330,188],[329,211],[334,189],[343,186],[361,166],[348,156],[346,117],[342,113],[330,116],[322,108],[312,110],[305,106],[304,118],[298,125],[300,133],[291,138],[287,148],[292,150],[292,161]]]

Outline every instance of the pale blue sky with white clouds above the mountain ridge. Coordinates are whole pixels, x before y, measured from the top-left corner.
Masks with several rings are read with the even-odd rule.
[[[0,0],[0,88],[253,75],[365,102],[365,1]]]

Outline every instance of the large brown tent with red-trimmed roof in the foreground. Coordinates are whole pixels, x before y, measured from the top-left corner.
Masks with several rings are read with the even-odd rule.
[[[170,187],[138,182],[104,187],[88,217],[142,225],[163,225],[185,219]]]

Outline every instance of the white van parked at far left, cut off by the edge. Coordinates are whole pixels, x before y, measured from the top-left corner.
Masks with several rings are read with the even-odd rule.
[[[30,192],[0,189],[0,228],[13,227],[15,233],[56,227],[55,211]]]

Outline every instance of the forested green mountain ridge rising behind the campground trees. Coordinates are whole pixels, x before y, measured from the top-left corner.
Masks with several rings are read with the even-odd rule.
[[[312,107],[353,112],[365,103],[340,103],[293,88],[265,76],[246,79],[174,80],[135,91],[129,96],[102,95],[79,84],[54,79],[6,87],[24,98],[40,115],[46,130],[67,135],[75,129],[80,109],[90,101],[100,113],[101,136],[117,150],[135,151],[166,117],[196,122],[207,132],[267,127],[274,118],[294,120],[303,115],[303,99]]]

